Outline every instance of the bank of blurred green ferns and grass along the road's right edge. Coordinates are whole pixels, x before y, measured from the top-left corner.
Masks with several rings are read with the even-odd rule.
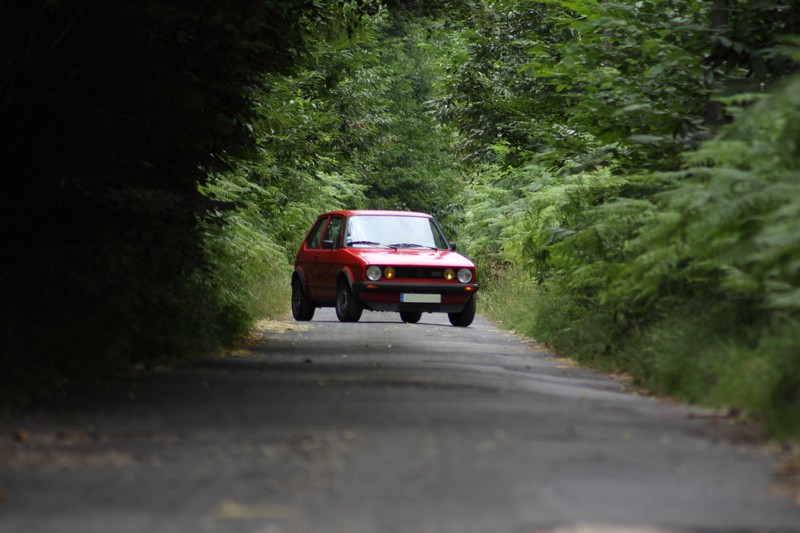
[[[544,263],[526,266],[543,273],[526,330],[651,389],[800,430],[798,84],[760,99],[684,171],[599,181],[588,210],[590,187],[563,205],[548,191],[574,231],[540,240]],[[663,192],[631,198],[648,189]]]

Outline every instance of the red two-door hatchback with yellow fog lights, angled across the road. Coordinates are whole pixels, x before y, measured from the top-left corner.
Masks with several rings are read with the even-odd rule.
[[[371,309],[414,324],[438,312],[466,327],[477,290],[475,265],[431,215],[332,211],[317,218],[297,252],[292,315],[311,320],[317,307],[335,307],[340,321],[357,322]]]

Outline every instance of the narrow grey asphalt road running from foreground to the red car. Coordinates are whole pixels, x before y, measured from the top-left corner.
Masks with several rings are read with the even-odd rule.
[[[0,415],[0,531],[800,531],[743,428],[484,320],[262,335]]]

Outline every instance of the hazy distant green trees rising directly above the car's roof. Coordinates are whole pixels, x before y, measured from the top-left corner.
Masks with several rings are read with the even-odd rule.
[[[351,145],[353,172],[372,208],[430,212],[441,219],[457,211],[457,161],[452,130],[436,124],[427,102],[439,75],[434,61],[446,33],[426,20],[389,17],[372,28],[335,65],[337,102]],[[337,52],[337,56],[340,53]],[[327,59],[327,57],[326,57]],[[324,64],[329,65],[330,60]]]

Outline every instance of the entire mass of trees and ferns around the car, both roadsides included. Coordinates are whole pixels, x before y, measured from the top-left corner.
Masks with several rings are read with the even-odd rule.
[[[0,3],[3,375],[204,353],[337,207],[435,214],[504,324],[800,431],[790,2]]]

